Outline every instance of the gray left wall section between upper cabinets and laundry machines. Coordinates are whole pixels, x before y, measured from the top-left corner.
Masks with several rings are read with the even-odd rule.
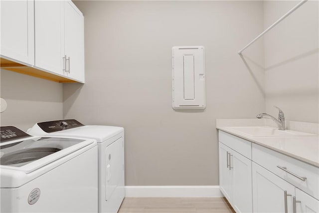
[[[1,69],[0,96],[7,109],[1,126],[24,131],[36,122],[62,119],[62,84]]]

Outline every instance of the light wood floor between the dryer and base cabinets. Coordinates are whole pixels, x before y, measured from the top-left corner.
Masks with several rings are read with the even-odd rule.
[[[125,198],[118,213],[235,213],[224,198]]]

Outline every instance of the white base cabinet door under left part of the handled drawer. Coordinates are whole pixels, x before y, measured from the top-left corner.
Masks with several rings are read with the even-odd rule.
[[[252,163],[253,212],[292,213],[295,187]]]

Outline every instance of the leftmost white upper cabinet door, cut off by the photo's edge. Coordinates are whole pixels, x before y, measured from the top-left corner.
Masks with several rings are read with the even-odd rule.
[[[1,0],[1,56],[34,65],[34,0]]]

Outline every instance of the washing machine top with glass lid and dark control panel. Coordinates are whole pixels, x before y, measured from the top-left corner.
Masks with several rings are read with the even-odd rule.
[[[10,130],[10,131],[9,131]],[[15,132],[10,140],[0,143],[0,168],[16,170],[25,174],[31,173],[70,153],[82,149],[94,140],[60,138],[60,137],[22,137],[21,131],[15,127],[1,127],[1,138],[4,133]],[[25,134],[25,133],[24,133]],[[11,134],[12,135],[12,134]]]

